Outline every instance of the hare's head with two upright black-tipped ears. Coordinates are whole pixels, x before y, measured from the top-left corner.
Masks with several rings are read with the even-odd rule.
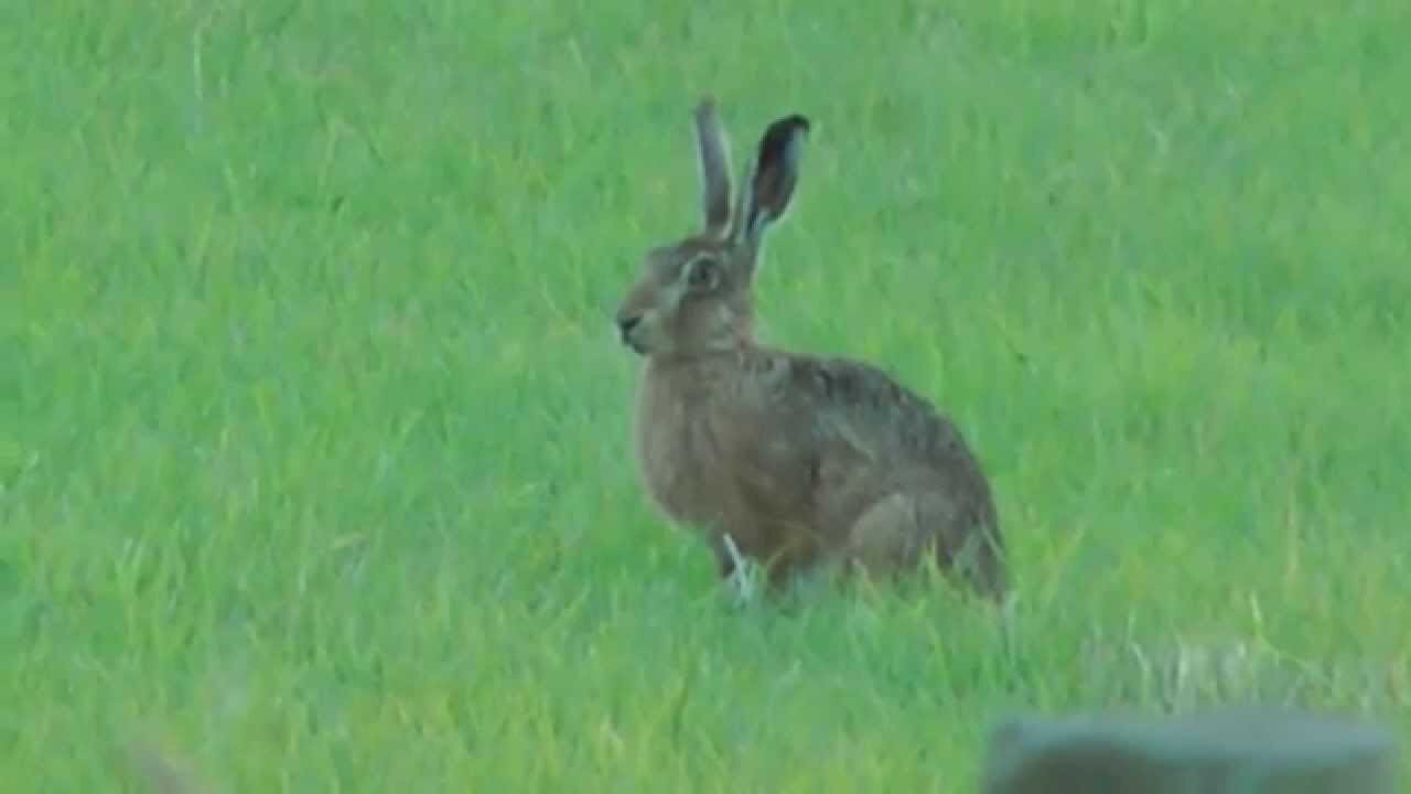
[[[751,284],[761,243],[769,225],[789,208],[807,133],[803,116],[772,123],[737,198],[729,143],[714,102],[697,106],[704,227],[648,251],[617,312],[626,346],[648,357],[691,357],[752,340]]]

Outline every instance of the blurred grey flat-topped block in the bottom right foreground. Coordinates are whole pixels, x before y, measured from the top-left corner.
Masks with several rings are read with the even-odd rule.
[[[991,735],[983,794],[1394,794],[1395,739],[1325,716],[1022,718]]]

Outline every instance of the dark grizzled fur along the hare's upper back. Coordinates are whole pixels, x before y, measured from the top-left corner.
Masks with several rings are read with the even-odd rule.
[[[950,417],[882,367],[782,352],[766,366],[780,401],[813,414],[818,429],[831,428],[873,451],[882,445],[920,458],[964,454],[965,441]]]

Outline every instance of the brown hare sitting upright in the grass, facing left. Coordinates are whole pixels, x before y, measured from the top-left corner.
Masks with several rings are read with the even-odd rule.
[[[991,486],[954,424],[875,366],[755,340],[751,287],[810,122],[768,127],[737,198],[711,97],[694,120],[704,227],[646,253],[615,318],[645,359],[635,448],[646,492],[704,534],[727,579],[737,554],[763,565],[770,589],[821,564],[895,578],[930,557],[1002,602]]]

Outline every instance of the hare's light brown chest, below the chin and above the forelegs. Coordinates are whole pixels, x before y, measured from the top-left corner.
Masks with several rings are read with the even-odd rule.
[[[710,524],[732,502],[720,438],[701,398],[643,384],[636,417],[636,459],[652,500],[672,519]]]

